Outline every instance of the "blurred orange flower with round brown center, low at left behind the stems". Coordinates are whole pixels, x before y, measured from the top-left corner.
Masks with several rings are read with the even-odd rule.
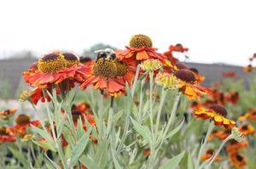
[[[14,127],[9,127],[9,132],[15,133],[18,136],[24,136],[26,134],[26,129],[31,125],[38,127],[41,125],[40,121],[31,121],[29,115],[18,115],[15,119],[16,125]]]

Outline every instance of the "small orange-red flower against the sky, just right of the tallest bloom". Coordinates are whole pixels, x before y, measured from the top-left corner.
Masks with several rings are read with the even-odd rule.
[[[171,45],[169,47],[169,51],[165,52],[164,55],[171,61],[172,65],[175,65],[177,62],[177,58],[173,56],[173,52],[180,52],[184,53],[187,52],[189,48],[183,48],[183,45],[180,43],[177,43],[175,46]]]

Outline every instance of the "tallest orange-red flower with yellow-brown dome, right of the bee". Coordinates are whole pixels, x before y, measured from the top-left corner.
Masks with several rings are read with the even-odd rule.
[[[157,48],[152,48],[150,37],[139,34],[131,37],[130,47],[125,50],[116,50],[117,58],[121,61],[138,61],[146,59],[159,59],[162,63],[166,62],[166,56],[156,52]]]

